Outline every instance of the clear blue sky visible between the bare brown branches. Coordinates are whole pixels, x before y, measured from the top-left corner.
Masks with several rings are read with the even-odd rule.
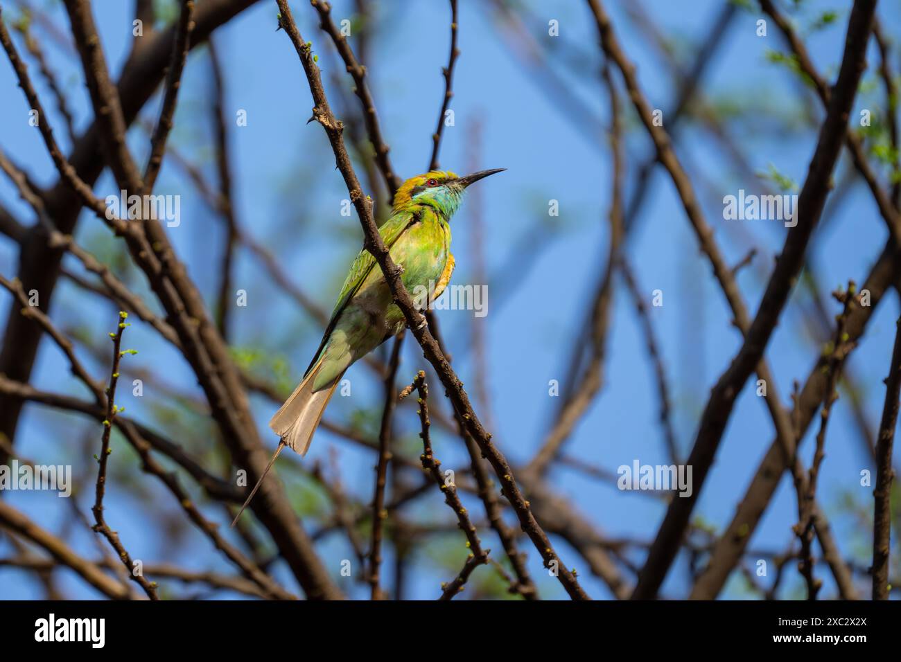
[[[68,29],[68,21],[58,3],[38,0],[36,4],[53,8],[57,23]],[[96,0],[94,5],[107,58],[117,72],[132,38],[131,3]],[[343,72],[341,68],[334,70],[336,59],[328,54],[329,44],[316,27],[314,11],[305,3],[294,5],[305,39],[313,41],[316,52],[323,53],[320,65],[326,91],[337,106],[337,95],[332,91],[333,77],[342,77]],[[352,3],[333,5],[336,18],[351,14]],[[578,327],[585,318],[596,279],[603,268],[608,240],[605,214],[610,204],[611,162],[604,134],[609,113],[598,73],[601,59],[596,30],[588,20],[583,3],[560,0],[522,5],[527,8],[527,27],[547,54],[551,68],[569,93],[590,109],[596,122],[574,122],[569,118],[562,110],[560,95],[523,65],[505,28],[496,22],[487,5],[490,4],[460,1],[461,55],[451,103],[456,123],[445,131],[441,164],[458,173],[469,168],[474,149],[471,135],[474,123],[478,122],[482,141],[478,145],[477,168],[508,168],[505,173],[477,185],[484,222],[480,249],[489,274],[489,313],[475,320],[467,311],[444,311],[439,316],[454,365],[468,385],[473,382],[475,371],[470,355],[470,329],[472,324],[484,325],[488,349],[485,374],[491,416],[496,422],[495,440],[508,458],[520,463],[531,458],[549,428],[558,404],[548,394],[549,380],[563,382],[569,378],[565,374],[569,347],[578,337]],[[614,27],[637,64],[642,89],[651,105],[670,108],[676,82],[669,68],[657,57],[642,32],[635,29],[620,3],[605,5],[610,5]],[[688,53],[691,49],[687,45],[705,37],[720,8],[719,3],[705,0],[692,3],[647,0],[643,5],[664,32],[678,34],[678,50]],[[802,27],[824,10],[836,9],[840,13],[836,24],[808,38],[817,66],[833,76],[842,52],[846,4],[807,0],[804,5],[797,14]],[[895,7],[883,6],[879,11],[885,25],[892,25],[892,19],[897,18]],[[361,231],[355,215],[346,217],[340,213],[341,200],[347,191],[340,174],[333,168],[331,150],[321,127],[305,124],[312,106],[309,89],[290,42],[283,32],[275,32],[275,14],[275,3],[262,2],[216,35],[226,71],[226,115],[243,109],[248,117],[247,126],[237,127],[232,123],[230,127],[234,200],[244,230],[278,255],[287,273],[307,294],[324,308],[331,309],[350,259],[359,249]],[[430,136],[443,93],[441,67],[447,59],[449,14],[447,4],[437,0],[383,2],[376,10],[368,63],[369,85],[378,105],[382,131],[391,146],[391,159],[402,177],[423,171],[429,160]],[[811,101],[786,68],[768,61],[767,50],[784,51],[785,47],[775,26],[770,26],[768,37],[756,36],[758,18],[756,13],[739,12],[723,46],[710,63],[705,79],[706,94],[715,99],[730,99],[742,107],[774,107],[791,115],[809,107],[819,121],[823,115],[819,105]],[[560,40],[575,50],[578,57],[564,57],[560,44],[551,41],[553,38],[547,34],[547,22],[551,19],[560,22]],[[59,71],[69,91],[77,126],[83,128],[90,111],[86,89],[78,77],[77,59],[56,44],[42,42],[51,65]],[[872,68],[878,59],[875,49],[871,54]],[[865,81],[872,80],[870,69]],[[188,159],[213,177],[206,110],[210,85],[206,52],[197,50],[188,59],[172,141]],[[15,87],[12,69],[6,63],[0,64],[0,90],[5,90],[4,103],[0,104],[0,144],[16,162],[28,168],[35,180],[54,181],[55,172],[40,136],[23,119],[27,104]],[[44,103],[52,105],[42,83],[39,91]],[[855,109],[881,109],[882,99],[881,89],[870,85],[856,100]],[[156,97],[145,107],[143,116],[152,118],[158,107],[159,97]],[[53,119],[56,132],[61,135],[59,116]],[[634,185],[636,169],[651,153],[651,144],[637,127],[631,111],[627,113],[627,122],[628,194]],[[801,130],[786,133],[779,129],[779,122],[761,113],[750,120],[735,122],[731,132],[755,170],[766,170],[773,164],[780,172],[803,183],[815,145],[816,128],[807,124]],[[141,130],[132,130],[130,141],[135,153],[145,158],[146,135]],[[734,175],[722,150],[696,124],[683,127],[677,151],[694,177],[707,221],[714,227],[716,239],[729,261],[737,263],[747,253],[749,247],[742,238],[750,233],[764,247],[755,264],[771,265],[785,237],[781,223],[724,221],[722,216],[722,195],[735,194],[742,187],[750,189],[755,182]],[[840,170],[846,166],[845,160],[842,158]],[[705,181],[710,183],[709,187],[701,185]],[[729,323],[731,316],[724,296],[697,250],[669,177],[655,171],[652,183],[641,222],[631,238],[629,254],[649,301],[652,290],[661,289],[664,293],[664,305],[651,308],[651,316],[674,396],[679,448],[685,455],[706,395],[738,349],[740,336]],[[103,195],[114,189],[108,175],[96,186],[96,192]],[[169,235],[186,259],[191,276],[212,299],[218,283],[223,225],[171,163],[163,168],[158,191],[183,195],[182,224],[170,230]],[[547,216],[551,199],[560,203],[559,219]],[[31,215],[6,180],[0,181],[0,200],[30,222]],[[471,204],[464,204],[452,225],[456,283],[474,282],[470,223],[473,212]],[[743,223],[743,227],[734,227],[736,223]],[[821,284],[824,290],[829,291],[849,278],[860,283],[886,237],[868,192],[864,186],[855,185],[836,216],[815,238],[812,258],[824,278]],[[78,238],[98,251],[113,246],[105,228],[86,213],[79,222]],[[514,252],[523,246],[533,251],[528,260],[517,259]],[[16,259],[10,242],[0,240],[0,272],[14,273]],[[510,269],[514,273],[509,273]],[[513,291],[505,293],[499,285],[502,282],[514,284]],[[742,271],[739,283],[753,312],[765,280],[749,268]],[[285,358],[292,375],[299,376],[318,345],[322,330],[285,295],[276,292],[259,262],[246,254],[238,261],[234,285],[246,289],[249,298],[246,308],[235,308],[232,312],[234,344],[265,348],[272,356]],[[789,306],[802,298],[796,291]],[[0,299],[4,311],[7,310],[8,297],[4,295]],[[805,379],[818,355],[815,344],[801,331],[804,320],[798,310],[792,307],[784,316],[767,353],[784,398],[790,393],[794,379]],[[85,329],[93,338],[102,336],[114,322],[112,308],[84,295],[68,282],[58,288],[52,314],[60,326]],[[881,410],[881,380],[887,374],[897,315],[896,295],[891,293],[869,323],[867,334],[851,359],[855,374],[866,386],[865,404],[874,429]],[[167,383],[196,392],[187,364],[174,351],[162,347],[150,329],[135,323],[126,344],[141,349],[141,354],[134,359],[136,365],[159,371]],[[614,298],[608,348],[603,390],[579,422],[566,447],[567,454],[611,471],[623,464],[631,465],[636,458],[642,464],[669,464],[657,422],[658,401],[651,365],[633,304],[622,287],[617,289]],[[102,364],[91,365],[98,376],[103,374]],[[408,340],[401,380],[412,377],[423,365],[421,352]],[[354,385],[353,395],[336,397],[329,409],[329,416],[339,421],[380,406],[381,387],[373,382],[367,367],[352,367],[348,376]],[[83,393],[79,385],[70,383],[63,358],[46,341],[41,345],[33,381],[50,390]],[[437,398],[441,388],[433,387],[432,393]],[[153,405],[146,398],[127,404],[133,415],[153,420]],[[478,405],[478,411],[482,411],[484,403]],[[445,404],[441,406],[447,411]],[[261,434],[273,448],[277,440],[265,423],[274,409],[275,405],[268,401],[254,400]],[[407,449],[414,448],[410,445],[414,425],[413,410],[401,408],[398,429],[406,435]],[[50,414],[32,405],[25,410],[17,449],[35,461],[71,461],[76,465],[76,473],[79,467],[93,472],[89,454],[78,449],[82,448],[82,438],[87,435],[90,439],[92,431],[99,440],[95,427],[92,422]],[[696,515],[714,526],[729,521],[760,458],[769,448],[772,435],[772,424],[763,402],[746,385],[726,430],[714,471],[704,486]],[[808,462],[813,452],[810,437],[807,437],[804,456]],[[209,445],[204,440],[189,443],[192,449],[206,449]],[[368,502],[374,458],[369,451],[319,431],[303,464],[316,459],[327,461],[332,448],[339,449],[341,454],[343,483],[361,501]],[[437,433],[435,450],[446,467],[465,466],[465,453],[454,437]],[[123,453],[123,464],[128,457]],[[869,531],[861,529],[860,522],[846,512],[840,512],[840,495],[853,494],[860,504],[871,508],[871,490],[860,487],[858,482],[860,470],[872,469],[870,465],[862,452],[847,403],[842,399],[834,408],[819,485],[821,501],[826,512],[833,515],[836,539],[846,554],[866,549],[860,545],[861,541],[868,540]],[[129,475],[124,467],[122,475]],[[224,562],[214,556],[208,542],[193,530],[179,540],[177,549],[162,545],[160,532],[149,525],[150,521],[142,513],[153,512],[157,500],[168,509],[172,504],[168,502],[168,494],[153,485],[150,477],[141,476],[140,480],[146,485],[131,496],[117,490],[114,483],[107,512],[108,520],[114,522],[132,556],[159,559],[165,555],[188,567],[223,569]],[[599,531],[613,538],[651,540],[664,512],[664,506],[655,499],[620,492],[614,485],[603,485],[572,469],[553,469],[550,483],[594,522]],[[291,482],[289,489],[303,490],[305,485]],[[61,500],[52,495],[17,493],[5,498],[54,531],[65,527],[65,521],[70,518],[68,508],[61,507]],[[89,498],[89,494],[79,497],[85,509]],[[472,503],[473,512],[479,512],[478,507],[478,503]],[[223,520],[221,512],[209,511],[211,516]],[[443,521],[449,516],[437,491],[410,512],[411,519],[423,521]],[[751,546],[784,549],[795,521],[794,492],[784,480]],[[485,539],[490,541],[488,547],[500,549],[493,535],[486,532]],[[74,540],[73,544],[82,553],[95,553],[94,543],[86,533],[77,533]],[[454,549],[462,546],[461,537],[460,540],[452,536],[442,538],[441,544],[445,542]],[[554,542],[564,562],[579,568],[589,594],[596,598],[610,596],[605,585],[590,576],[572,549],[560,540]],[[2,543],[0,549],[4,549]],[[333,569],[336,581],[347,583],[348,580],[337,577],[335,560],[347,558],[346,544],[337,536],[325,537],[319,543],[319,550],[326,566]],[[541,561],[533,550],[530,569],[535,576],[542,576],[539,586],[543,595],[564,597],[560,585],[543,573]],[[277,567],[277,572],[290,583],[284,567]],[[623,572],[632,578],[627,571]],[[434,561],[423,552],[422,562],[414,564],[408,597],[434,597],[442,573],[446,574],[441,569],[436,572]],[[831,579],[822,569],[820,576],[826,581],[825,594],[834,594]],[[734,582],[724,595],[744,596],[740,584]],[[73,576],[65,576],[63,585],[75,597],[94,595]],[[787,586],[796,585],[797,578],[792,576]],[[341,587],[351,595],[361,595],[359,586]],[[687,592],[687,587],[687,565],[680,558],[662,593],[681,595]],[[29,598],[40,594],[40,585],[32,578],[0,569],[0,596]]]

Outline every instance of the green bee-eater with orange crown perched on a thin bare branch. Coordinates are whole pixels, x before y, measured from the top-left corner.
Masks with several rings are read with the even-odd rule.
[[[481,170],[465,177],[432,170],[407,179],[397,189],[391,216],[378,232],[391,258],[404,269],[401,280],[407,290],[412,293],[427,288],[428,301],[417,302],[423,308],[441,295],[451,279],[454,259],[450,221],[460,207],[463,192],[473,182],[504,169]],[[375,258],[366,249],[361,250],[341,287],[332,319],[303,381],[269,421],[269,427],[281,438],[272,461],[286,445],[306,454],[344,371],[403,331],[405,323]],[[255,492],[256,487],[248,501]]]

